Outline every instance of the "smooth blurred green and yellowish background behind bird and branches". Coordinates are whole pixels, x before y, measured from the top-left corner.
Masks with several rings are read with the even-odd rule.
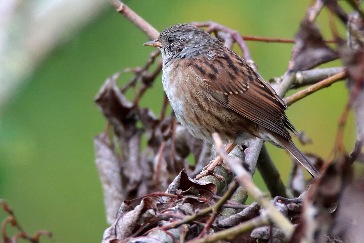
[[[159,31],[176,23],[214,20],[242,35],[293,38],[309,1],[126,3]],[[324,37],[331,39],[326,10],[317,25]],[[345,35],[341,23],[337,25]],[[0,198],[15,210],[27,232],[50,230],[55,242],[102,239],[107,224],[92,138],[103,130],[105,119],[92,99],[114,72],[145,63],[151,52],[151,48],[142,46],[146,41],[146,35],[108,7],[69,42],[57,47],[7,102],[0,118]],[[248,46],[265,79],[285,72],[293,44],[248,42]],[[237,48],[234,50],[241,54]],[[325,65],[331,66],[341,63]],[[127,80],[127,76],[121,77],[119,85]],[[141,106],[148,105],[158,114],[162,92],[159,76]],[[296,144],[326,158],[346,101],[347,90],[344,82],[339,82],[292,105],[288,117],[297,130],[304,130],[314,141],[302,147],[295,139]],[[355,140],[351,113],[344,137],[348,150]],[[286,181],[290,157],[284,150],[267,147]],[[266,189],[258,173],[254,180]],[[0,212],[0,219],[4,217],[5,213]]]

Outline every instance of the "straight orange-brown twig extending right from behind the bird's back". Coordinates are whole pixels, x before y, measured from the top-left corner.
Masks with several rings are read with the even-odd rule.
[[[304,90],[298,91],[296,94],[293,94],[288,98],[285,98],[284,101],[286,102],[287,106],[290,106],[293,103],[307,97],[308,95],[318,90],[329,87],[333,83],[345,79],[345,77],[346,77],[346,71],[339,72],[338,74],[335,74],[332,77],[324,79],[323,81],[320,81]]]

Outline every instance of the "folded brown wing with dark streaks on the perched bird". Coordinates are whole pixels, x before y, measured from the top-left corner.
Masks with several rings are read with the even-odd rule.
[[[256,122],[287,139],[289,129],[297,134],[285,115],[287,106],[273,88],[235,52],[210,51],[206,53],[204,65],[192,68],[204,80],[207,92],[223,106]]]

